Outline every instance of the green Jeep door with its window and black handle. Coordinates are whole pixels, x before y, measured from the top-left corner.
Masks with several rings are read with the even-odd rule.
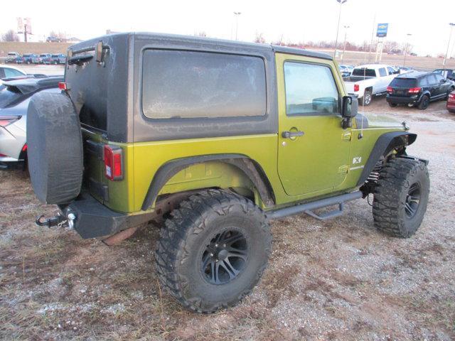
[[[276,60],[279,178],[288,195],[328,193],[343,183],[349,165],[342,80],[331,60],[282,53]]]

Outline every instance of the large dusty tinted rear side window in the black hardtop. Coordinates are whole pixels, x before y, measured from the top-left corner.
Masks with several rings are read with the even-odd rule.
[[[142,110],[152,119],[262,116],[264,61],[245,55],[146,50]]]

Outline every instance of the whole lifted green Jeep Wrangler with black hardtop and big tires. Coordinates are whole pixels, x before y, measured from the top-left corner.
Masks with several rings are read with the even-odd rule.
[[[33,190],[61,211],[37,224],[112,245],[163,220],[159,278],[197,312],[257,284],[269,220],[373,194],[375,227],[410,237],[427,209],[416,134],[358,114],[324,53],[121,33],[73,45],[60,89],[28,107]]]

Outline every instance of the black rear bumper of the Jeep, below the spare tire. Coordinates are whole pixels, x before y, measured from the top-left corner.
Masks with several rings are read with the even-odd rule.
[[[154,217],[153,212],[136,215],[114,212],[87,193],[82,193],[69,205],[60,205],[60,210],[65,217],[70,212],[75,215],[74,229],[83,239],[105,237],[148,222]]]

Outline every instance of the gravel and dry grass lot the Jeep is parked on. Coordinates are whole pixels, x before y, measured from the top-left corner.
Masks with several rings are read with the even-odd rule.
[[[412,154],[428,158],[429,207],[419,232],[395,239],[373,227],[366,200],[337,220],[272,223],[273,254],[242,304],[215,315],[182,310],[161,291],[158,227],[106,247],[75,232],[35,227],[28,175],[0,173],[1,340],[454,340],[455,115],[365,110],[406,120]]]

